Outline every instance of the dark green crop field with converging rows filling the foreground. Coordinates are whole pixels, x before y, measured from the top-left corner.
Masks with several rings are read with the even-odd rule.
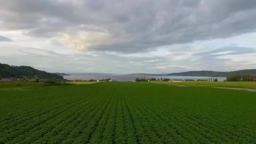
[[[256,143],[256,93],[105,82],[0,88],[0,143]]]

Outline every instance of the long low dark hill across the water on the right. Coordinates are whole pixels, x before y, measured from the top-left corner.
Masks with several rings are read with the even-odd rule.
[[[206,76],[206,77],[228,77],[232,75],[253,75],[256,76],[256,69],[244,69],[233,72],[214,72],[214,71],[189,71],[189,72],[179,72],[171,73],[167,75],[175,76]]]

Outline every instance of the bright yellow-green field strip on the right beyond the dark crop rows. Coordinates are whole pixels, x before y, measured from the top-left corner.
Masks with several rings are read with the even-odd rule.
[[[184,81],[184,82],[164,82],[150,81],[150,83],[176,84],[200,87],[226,87],[226,88],[255,88],[255,82],[200,82],[200,81]]]

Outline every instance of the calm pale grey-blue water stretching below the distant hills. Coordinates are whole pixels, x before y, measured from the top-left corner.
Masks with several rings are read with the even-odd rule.
[[[209,80],[209,77],[192,77],[192,76],[166,76],[166,75],[69,75],[69,76],[64,76],[65,79],[67,80],[101,80],[101,79],[107,79],[110,78],[111,80],[116,80],[116,81],[134,81],[136,77],[139,78],[153,78],[155,77],[156,79],[161,77],[169,78],[171,80],[176,79],[176,80]],[[217,77],[219,81],[226,80],[226,77]]]

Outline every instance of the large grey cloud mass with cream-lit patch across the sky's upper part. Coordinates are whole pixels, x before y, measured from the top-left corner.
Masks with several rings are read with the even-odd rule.
[[[0,27],[82,51],[150,51],[255,32],[256,0],[0,0]]]

